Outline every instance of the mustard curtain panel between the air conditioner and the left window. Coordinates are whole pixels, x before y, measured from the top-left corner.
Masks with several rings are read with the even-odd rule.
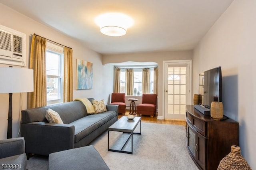
[[[34,70],[34,92],[28,93],[28,108],[42,107],[46,101],[46,39],[33,35],[29,68]]]

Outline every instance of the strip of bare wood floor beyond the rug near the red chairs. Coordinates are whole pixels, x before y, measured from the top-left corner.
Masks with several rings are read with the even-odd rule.
[[[129,111],[126,111],[126,115],[129,114]],[[118,115],[118,119],[121,118],[122,114]],[[155,115],[154,117],[150,117],[147,115],[141,115],[141,121],[145,122],[145,123],[160,123],[160,124],[171,124],[171,125],[186,125],[186,121],[185,120],[176,120],[176,119],[170,119],[170,120],[158,120],[157,119],[157,115]]]

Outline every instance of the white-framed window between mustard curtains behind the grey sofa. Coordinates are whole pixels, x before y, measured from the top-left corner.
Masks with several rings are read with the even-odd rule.
[[[64,48],[46,43],[46,93],[47,105],[63,102]]]

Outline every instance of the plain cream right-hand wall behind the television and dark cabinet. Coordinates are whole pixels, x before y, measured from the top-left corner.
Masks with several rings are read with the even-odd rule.
[[[255,9],[255,0],[234,0],[197,45],[193,57],[193,93],[198,93],[200,72],[221,66],[224,114],[238,121],[241,153],[252,169],[256,169]]]

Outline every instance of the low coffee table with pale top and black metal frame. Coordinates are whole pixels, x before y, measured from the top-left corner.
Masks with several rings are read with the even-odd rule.
[[[134,132],[135,128],[137,125],[140,123],[140,132]],[[110,131],[116,131],[116,132],[123,132],[123,133],[129,133],[130,135],[128,138],[125,140],[124,144],[120,148],[120,150],[116,149],[110,149],[109,148],[109,132]],[[122,153],[127,153],[127,154],[132,154],[133,152],[133,134],[141,134],[141,118],[140,117],[134,117],[134,119],[127,119],[126,116],[121,117],[118,121],[116,121],[113,125],[111,125],[108,128],[108,151],[113,151],[113,152],[122,152]],[[130,137],[132,137],[132,151],[125,151],[124,146],[126,143],[129,141]]]

